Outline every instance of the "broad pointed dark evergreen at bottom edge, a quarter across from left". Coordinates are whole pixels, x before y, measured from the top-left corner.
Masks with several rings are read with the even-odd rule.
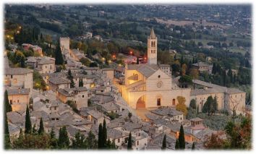
[[[67,134],[66,127],[62,127],[59,129],[59,140],[58,140],[58,147],[60,149],[66,149],[69,147],[69,136]]]

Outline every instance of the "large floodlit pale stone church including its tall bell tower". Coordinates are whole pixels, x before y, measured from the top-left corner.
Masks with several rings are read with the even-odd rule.
[[[157,62],[157,37],[151,29],[148,37],[148,64],[127,64],[119,92],[132,108],[176,106],[177,96],[190,101],[190,88],[179,88],[171,80],[170,66]]]

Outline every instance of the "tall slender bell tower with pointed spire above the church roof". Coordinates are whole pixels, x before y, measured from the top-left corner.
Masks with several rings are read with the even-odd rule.
[[[148,37],[148,64],[157,64],[158,38],[156,38],[153,28]]]

